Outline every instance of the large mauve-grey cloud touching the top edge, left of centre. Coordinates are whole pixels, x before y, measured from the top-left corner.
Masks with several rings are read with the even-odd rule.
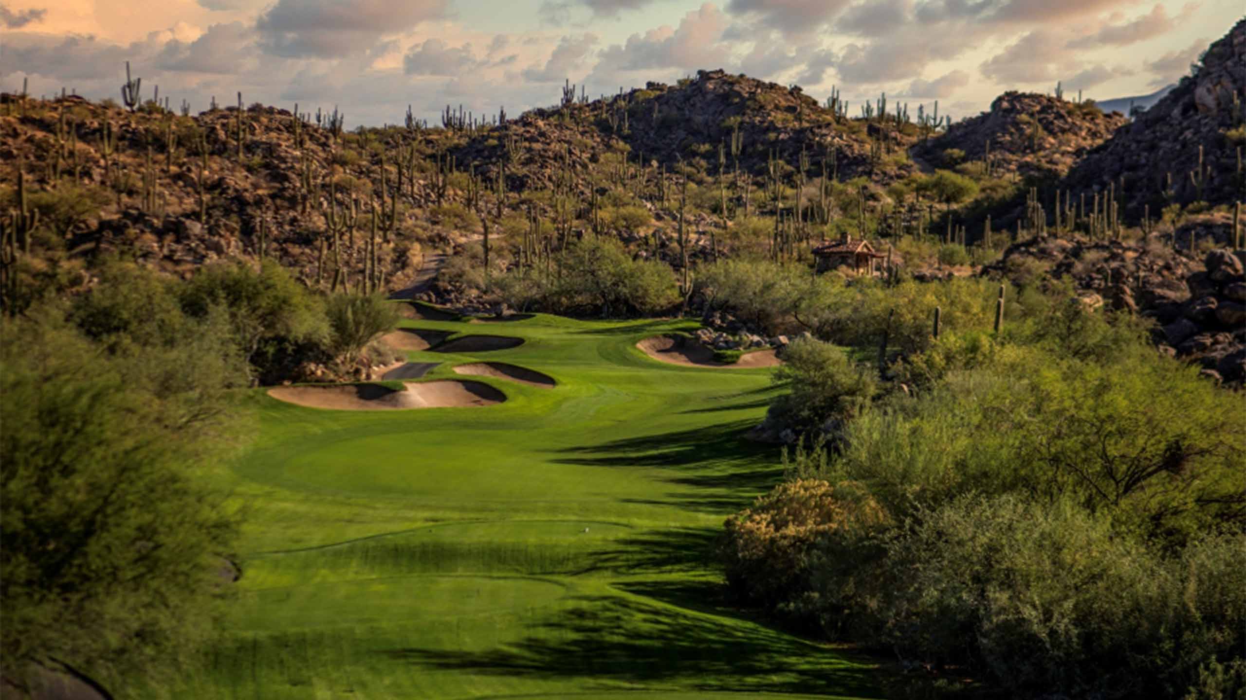
[[[255,27],[277,56],[340,59],[360,54],[385,35],[441,19],[449,0],[278,0]]]

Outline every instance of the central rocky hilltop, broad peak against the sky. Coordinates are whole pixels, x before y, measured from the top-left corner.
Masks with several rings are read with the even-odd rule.
[[[634,168],[628,172],[638,178],[654,179],[682,163],[716,177],[720,146],[721,172],[733,178],[736,172],[764,177],[771,157],[797,168],[804,151],[810,174],[821,172],[825,158],[832,177],[886,183],[917,169],[903,153],[920,128],[897,123],[893,110],[888,107],[890,118],[852,120],[799,87],[698,71],[677,85],[649,82],[611,97],[528,111],[471,136],[452,154],[486,173],[505,161],[508,183],[520,188],[551,187],[568,168],[587,172],[607,156],[628,159]]]

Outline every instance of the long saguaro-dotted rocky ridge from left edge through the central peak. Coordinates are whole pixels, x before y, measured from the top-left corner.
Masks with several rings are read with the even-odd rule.
[[[447,113],[444,128],[409,121],[354,132],[335,116],[263,105],[189,115],[5,93],[0,207],[20,209],[25,193],[42,223],[20,248],[47,264],[123,250],[184,275],[264,255],[318,286],[395,289],[430,250],[480,237],[486,213],[559,220],[566,235],[609,194],[673,229],[677,169],[706,188],[688,212],[694,232],[710,218],[721,224],[709,188],[734,215],[773,173],[796,186],[801,164],[810,182],[824,163],[829,181],[903,178],[917,171],[907,146],[933,130],[878,107],[849,118],[799,87],[723,71],[596,101],[568,87],[556,107],[488,125]]]

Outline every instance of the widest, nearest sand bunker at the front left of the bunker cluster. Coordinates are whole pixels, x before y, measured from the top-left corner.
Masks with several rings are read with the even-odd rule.
[[[487,406],[506,401],[505,394],[487,384],[459,380],[406,384],[400,390],[379,384],[277,386],[268,395],[299,406],[338,411]]]

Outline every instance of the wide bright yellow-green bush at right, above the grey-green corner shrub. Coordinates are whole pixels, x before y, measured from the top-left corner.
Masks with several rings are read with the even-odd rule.
[[[1121,531],[1180,544],[1240,527],[1246,407],[1146,348],[1111,365],[996,350],[920,396],[845,428],[832,477],[866,483],[895,517],[971,491],[1070,498]]]

